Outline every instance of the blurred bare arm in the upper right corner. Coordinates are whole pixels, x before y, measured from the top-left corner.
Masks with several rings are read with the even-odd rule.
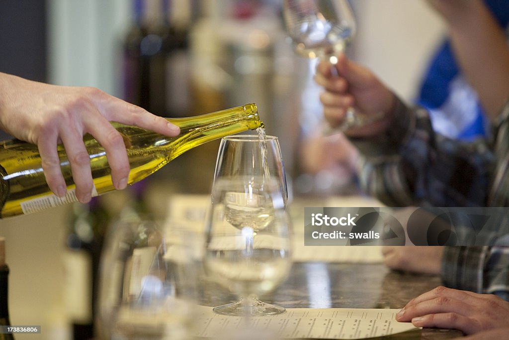
[[[509,47],[482,0],[428,0],[445,19],[459,66],[491,119],[509,96]]]

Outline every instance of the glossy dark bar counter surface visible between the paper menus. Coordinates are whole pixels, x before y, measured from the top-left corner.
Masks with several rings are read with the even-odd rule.
[[[440,285],[435,275],[388,270],[383,264],[294,263],[289,278],[265,302],[286,308],[402,308],[412,298]],[[217,306],[236,301],[224,289],[207,282],[200,303]],[[458,330],[423,328],[387,339],[449,339]]]

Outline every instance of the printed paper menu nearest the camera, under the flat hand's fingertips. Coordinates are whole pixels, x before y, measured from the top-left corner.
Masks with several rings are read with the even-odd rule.
[[[285,313],[252,317],[250,323],[275,338],[363,339],[419,329],[395,320],[399,309],[287,308]],[[238,331],[241,317],[222,316],[201,306],[196,335],[221,337]]]

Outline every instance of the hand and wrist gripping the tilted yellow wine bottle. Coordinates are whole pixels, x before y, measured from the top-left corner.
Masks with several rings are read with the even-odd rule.
[[[93,188],[90,158],[83,135],[91,134],[106,150],[116,189],[127,186],[129,161],[121,134],[109,123],[137,125],[156,133],[176,136],[179,128],[164,118],[90,87],[55,86],[0,73],[0,128],[36,144],[51,191],[64,196],[57,144],[65,147],[76,197],[86,203]]]

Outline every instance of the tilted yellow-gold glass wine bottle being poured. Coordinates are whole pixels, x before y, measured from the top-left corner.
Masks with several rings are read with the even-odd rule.
[[[247,129],[263,127],[255,104],[189,118],[168,118],[180,127],[180,135],[167,137],[136,126],[112,123],[124,136],[131,166],[128,184],[142,180],[183,152],[203,143]],[[90,135],[83,141],[90,155],[93,196],[115,190],[104,148]],[[9,140],[0,142],[0,218],[29,214],[49,207],[77,201],[71,167],[64,147],[59,145],[62,174],[67,195],[51,193],[34,144]]]

